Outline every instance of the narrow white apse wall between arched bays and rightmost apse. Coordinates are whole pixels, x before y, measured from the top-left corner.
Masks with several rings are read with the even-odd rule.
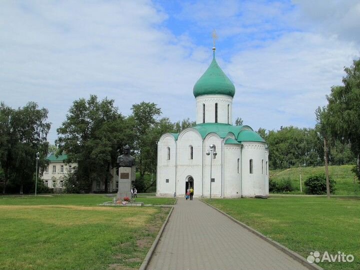
[[[224,197],[241,196],[241,144],[224,144]]]

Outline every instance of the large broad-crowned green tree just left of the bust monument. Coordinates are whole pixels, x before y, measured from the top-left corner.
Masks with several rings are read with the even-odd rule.
[[[117,150],[131,144],[133,131],[127,119],[117,112],[113,99],[101,101],[96,95],[75,100],[66,120],[57,128],[55,141],[59,153],[67,154],[67,162],[77,162],[75,178],[80,189],[89,191],[92,182],[105,183],[116,165]]]

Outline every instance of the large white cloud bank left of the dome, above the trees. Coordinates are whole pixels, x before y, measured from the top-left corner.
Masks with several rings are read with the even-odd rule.
[[[175,119],[181,107],[166,99],[186,91],[192,101],[205,54],[161,28],[166,14],[149,1],[6,2],[0,17],[0,99],[49,108],[51,141],[72,101],[91,93],[125,114],[153,101]]]

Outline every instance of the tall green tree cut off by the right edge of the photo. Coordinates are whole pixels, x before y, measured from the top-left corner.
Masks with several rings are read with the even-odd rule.
[[[344,71],[343,85],[332,86],[327,96],[328,128],[332,137],[350,143],[357,159],[354,171],[360,180],[360,59]]]

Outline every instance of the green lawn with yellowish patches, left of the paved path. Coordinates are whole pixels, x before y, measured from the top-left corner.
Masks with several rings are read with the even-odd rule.
[[[0,269],[137,269],[168,207],[96,194],[0,196]]]

